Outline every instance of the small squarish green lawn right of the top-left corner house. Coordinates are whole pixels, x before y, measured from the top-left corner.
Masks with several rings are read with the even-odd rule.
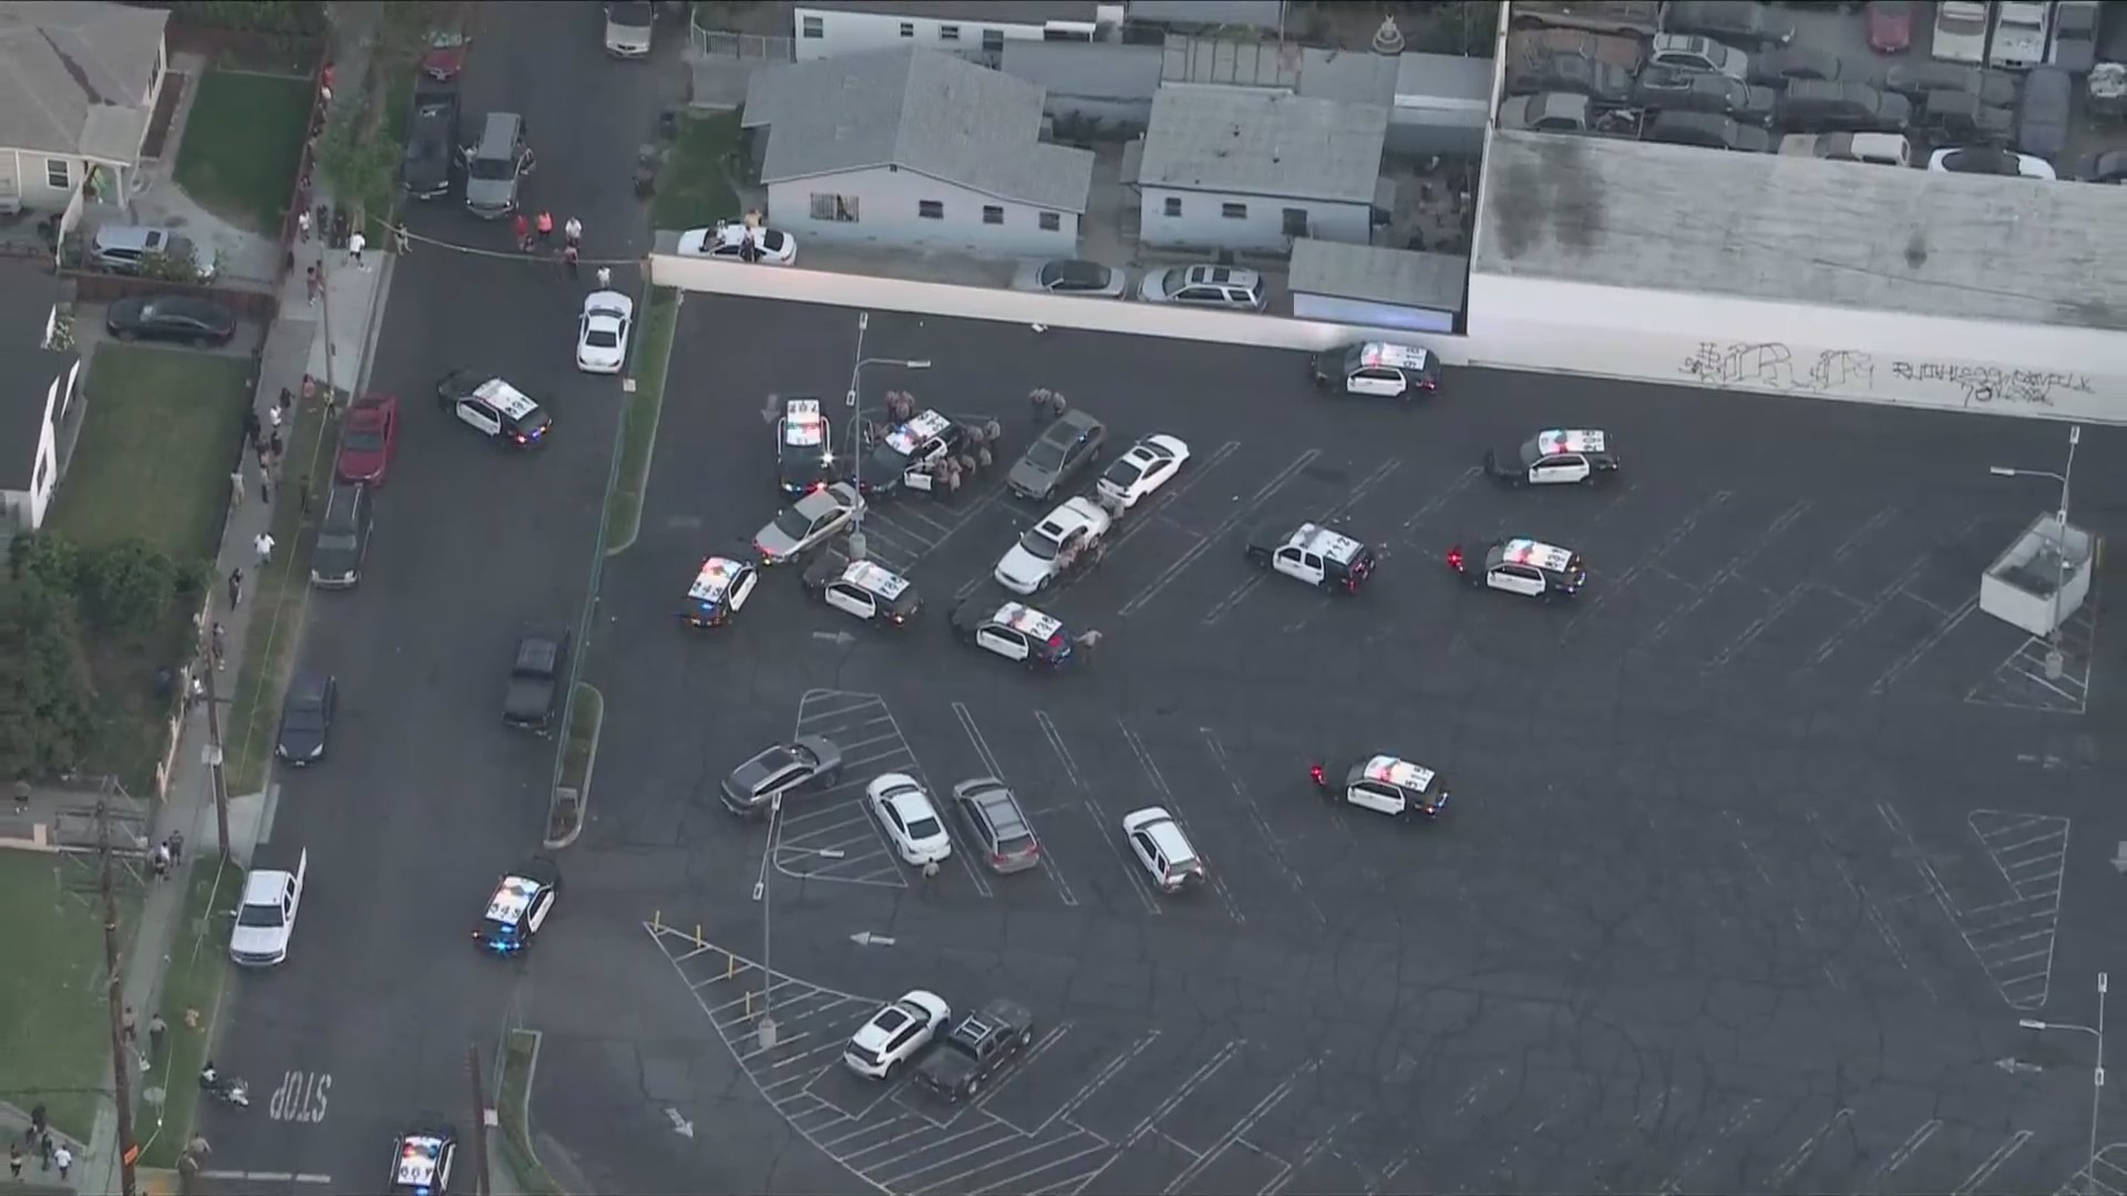
[[[208,70],[177,147],[177,185],[215,215],[274,234],[308,132],[308,79]]]

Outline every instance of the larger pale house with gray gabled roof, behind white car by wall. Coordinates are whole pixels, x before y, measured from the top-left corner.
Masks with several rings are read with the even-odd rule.
[[[1093,153],[1042,140],[1042,89],[932,49],[761,70],[742,128],[768,221],[802,240],[1070,255]],[[704,213],[704,219],[717,213]]]

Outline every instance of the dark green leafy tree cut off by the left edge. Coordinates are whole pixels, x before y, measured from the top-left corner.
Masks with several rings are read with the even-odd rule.
[[[0,587],[0,777],[64,773],[94,734],[96,687],[72,598],[34,577]]]

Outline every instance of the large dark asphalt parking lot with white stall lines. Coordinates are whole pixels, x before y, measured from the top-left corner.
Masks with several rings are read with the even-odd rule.
[[[2050,690],[1967,604],[2055,502],[1987,466],[2057,468],[2059,426],[1472,370],[1376,409],[1312,396],[1291,353],[874,315],[866,353],[934,366],[866,394],[995,413],[1008,455],[1038,385],[1117,451],[1193,449],[1093,575],[1036,600],[1106,641],[1029,677],[938,626],[1040,513],[993,481],[868,519],[927,596],[902,636],[774,572],[734,628],[676,626],[700,558],[774,511],[764,398],[840,394],[855,317],[696,296],[679,345],[644,532],[602,592],[579,913],[530,998],[572,1021],[547,1119],[610,1126],[579,1143],[610,1179],[730,1166],[668,1119],[740,1111],[778,1166],[887,1192],[1980,1192],[2084,1166],[2087,1045],[2016,1017],[2095,1017],[2110,938],[2065,877],[2116,883],[2116,819],[2087,802],[2108,581]],[[1623,481],[1472,472],[1546,426],[1608,430]],[[2114,441],[2087,432],[2082,460]],[[2080,477],[2104,532],[2118,487]],[[1359,596],[1244,564],[1251,526],[1302,517],[1380,545]],[[1497,534],[1580,549],[1587,596],[1457,587],[1442,549]],[[844,743],[840,785],[774,836],[717,809],[793,732]],[[1395,826],[1312,794],[1308,762],[1374,751],[1438,766],[1457,809]],[[859,807],[887,770],[1004,777],[1044,866],[895,864]],[[1212,885],[1144,887],[1117,834],[1144,804]],[[545,998],[576,951],[630,977],[598,1015]],[[1042,1019],[957,1115],[836,1062],[919,985]]]

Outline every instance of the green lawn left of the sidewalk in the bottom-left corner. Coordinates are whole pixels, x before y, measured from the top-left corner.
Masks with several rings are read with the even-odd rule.
[[[121,917],[130,921],[136,894],[123,883],[119,892]],[[111,1083],[96,873],[77,858],[0,851],[0,909],[9,911],[9,964],[0,968],[0,1060],[6,1060],[0,1100],[19,1109],[43,1102],[60,1132],[85,1143]],[[121,928],[121,941],[123,934],[130,926]]]

